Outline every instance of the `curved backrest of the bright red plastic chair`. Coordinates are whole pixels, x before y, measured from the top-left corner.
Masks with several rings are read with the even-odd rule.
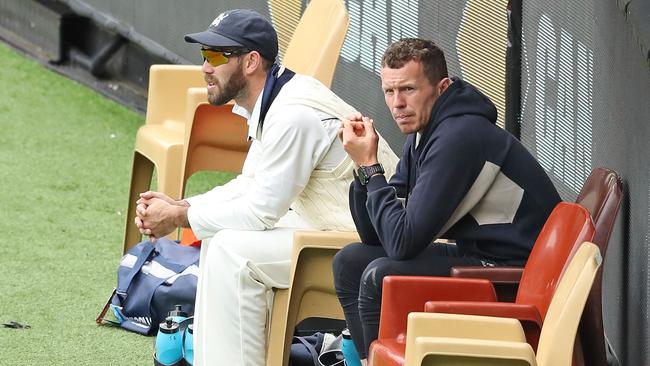
[[[560,202],[537,236],[521,276],[516,303],[532,304],[544,318],[571,255],[594,236],[594,224],[582,206]]]

